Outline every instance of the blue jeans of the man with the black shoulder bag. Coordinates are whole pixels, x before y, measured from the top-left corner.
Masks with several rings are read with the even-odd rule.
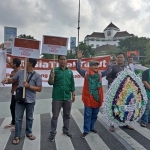
[[[32,133],[34,103],[16,103],[15,109],[15,137],[20,137],[22,129],[22,120],[26,109],[26,135]]]

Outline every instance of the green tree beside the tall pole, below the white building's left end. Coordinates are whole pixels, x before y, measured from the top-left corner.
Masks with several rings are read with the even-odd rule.
[[[76,49],[78,49],[78,47],[76,47]],[[92,48],[92,46],[90,45],[86,45],[86,43],[84,42],[79,43],[79,50],[83,51],[83,55],[85,58],[89,58],[95,55],[94,48]]]

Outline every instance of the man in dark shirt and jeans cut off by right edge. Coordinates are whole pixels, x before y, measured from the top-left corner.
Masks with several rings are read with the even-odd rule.
[[[145,112],[141,118],[141,126],[146,127],[146,123],[149,122],[149,116],[150,116],[150,69],[147,69],[143,72],[142,82],[146,89],[148,102],[146,104]]]

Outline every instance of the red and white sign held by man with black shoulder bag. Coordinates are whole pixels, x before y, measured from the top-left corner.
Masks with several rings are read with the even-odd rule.
[[[28,58],[39,58],[40,41],[14,38],[12,44],[12,55]]]

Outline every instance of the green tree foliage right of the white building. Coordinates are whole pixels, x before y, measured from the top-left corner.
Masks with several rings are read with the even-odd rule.
[[[120,40],[118,43],[118,48],[120,48],[124,52],[130,50],[138,50],[140,52],[140,55],[144,55],[148,42],[149,40],[146,37],[139,38],[137,36],[133,36]]]

